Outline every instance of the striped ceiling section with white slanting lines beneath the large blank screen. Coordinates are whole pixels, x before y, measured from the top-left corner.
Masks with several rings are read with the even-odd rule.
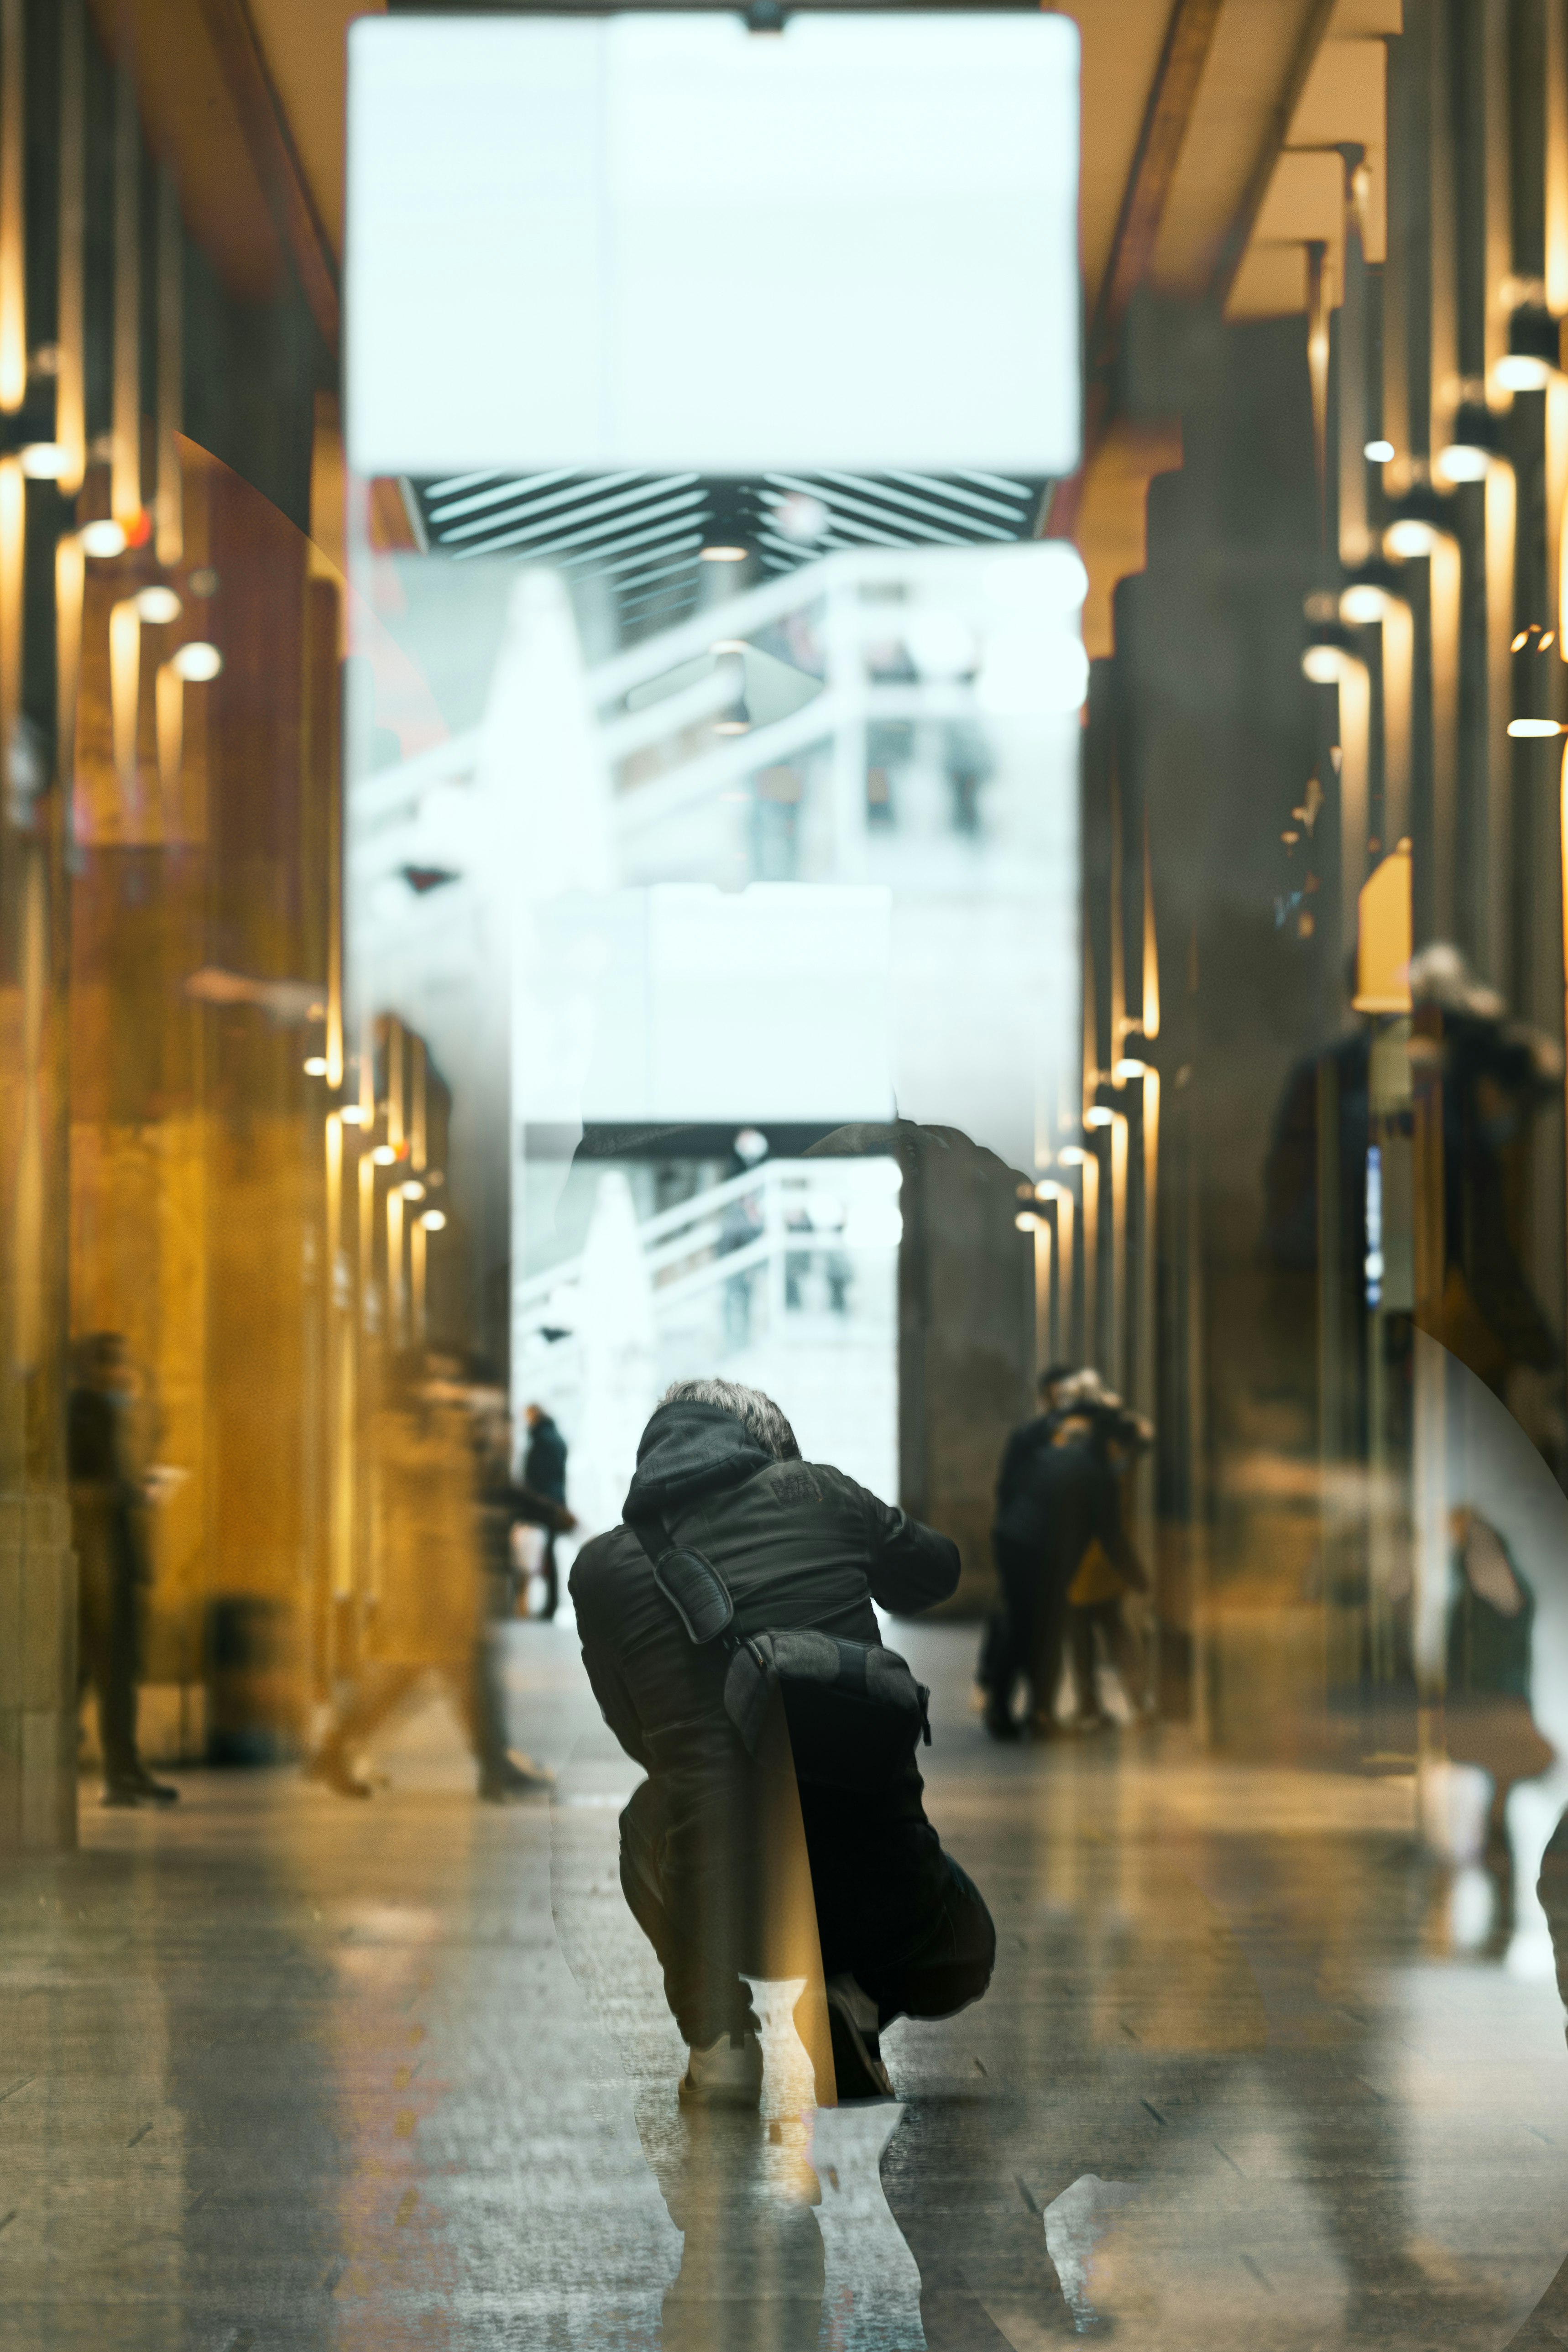
[[[630,640],[696,604],[705,546],[745,546],[776,574],[835,548],[1030,539],[1044,487],[987,473],[463,473],[416,492],[433,553],[597,576]]]

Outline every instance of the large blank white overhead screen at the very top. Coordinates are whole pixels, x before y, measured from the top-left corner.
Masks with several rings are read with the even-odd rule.
[[[360,473],[1063,475],[1065,16],[362,16]]]

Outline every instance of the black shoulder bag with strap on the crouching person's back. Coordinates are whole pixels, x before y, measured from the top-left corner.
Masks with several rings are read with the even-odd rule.
[[[896,1651],[813,1628],[741,1635],[729,1585],[710,1559],[677,1545],[663,1519],[628,1519],[628,1526],[686,1637],[698,1649],[719,1642],[729,1656],[724,1712],[748,1755],[757,1755],[773,1691],[783,1698],[799,1780],[886,1788],[914,1757],[917,1740],[931,1745],[931,1691]]]

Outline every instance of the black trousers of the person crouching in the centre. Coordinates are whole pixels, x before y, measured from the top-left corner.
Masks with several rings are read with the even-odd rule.
[[[835,1797],[837,1811],[858,1802]],[[811,1837],[806,1820],[823,1973],[853,1976],[877,2002],[882,2025],[893,2018],[950,2018],[990,1985],[997,1962],[992,1915],[969,1872],[943,1853],[929,1823],[891,1823],[886,1837],[877,1837],[875,1828],[867,1823],[860,1842],[839,1837],[825,1846]],[[759,1860],[766,1867],[766,1856]],[[644,1780],[621,1813],[621,1891],[658,1955],[665,1999],[684,2042],[705,2049],[719,2034],[757,2023],[743,1976],[759,1976],[762,1969],[750,1964],[757,1955],[748,1950],[745,1929],[736,1938],[738,1950],[726,1955],[731,1964],[712,1971],[691,1950],[691,1922],[670,1910],[656,1780]],[[872,1900],[867,1891],[875,1891]],[[743,1919],[748,1903],[722,1910]]]

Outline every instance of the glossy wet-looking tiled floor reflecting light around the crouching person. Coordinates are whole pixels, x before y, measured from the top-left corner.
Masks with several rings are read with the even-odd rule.
[[[0,1891],[0,2345],[1568,2340],[1526,2317],[1568,2251],[1556,1990],[1446,1957],[1410,1783],[994,1750],[971,1635],[905,1649],[999,1962],[886,2037],[896,2110],[813,2117],[764,1987],[762,2117],[679,2114],[616,1884],[635,1773],[564,1628],[512,1637],[552,1804],[475,1806],[435,1708],[369,1806],[87,1802]]]

